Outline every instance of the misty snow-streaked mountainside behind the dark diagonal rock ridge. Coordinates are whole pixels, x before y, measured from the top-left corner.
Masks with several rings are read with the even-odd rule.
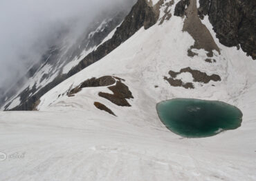
[[[87,54],[93,52],[113,34],[113,30],[122,22],[126,14],[127,10],[118,9],[104,16],[100,15],[89,28],[85,27],[81,35],[77,35],[78,37],[73,37],[74,35],[68,30],[60,32],[59,39],[49,47],[42,60],[31,65],[24,77],[0,95],[0,109],[14,109],[52,83],[57,76],[67,74]]]

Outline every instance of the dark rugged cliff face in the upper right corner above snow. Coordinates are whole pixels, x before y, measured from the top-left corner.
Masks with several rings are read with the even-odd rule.
[[[220,43],[241,49],[256,59],[256,1],[199,0],[199,16],[209,16]]]

